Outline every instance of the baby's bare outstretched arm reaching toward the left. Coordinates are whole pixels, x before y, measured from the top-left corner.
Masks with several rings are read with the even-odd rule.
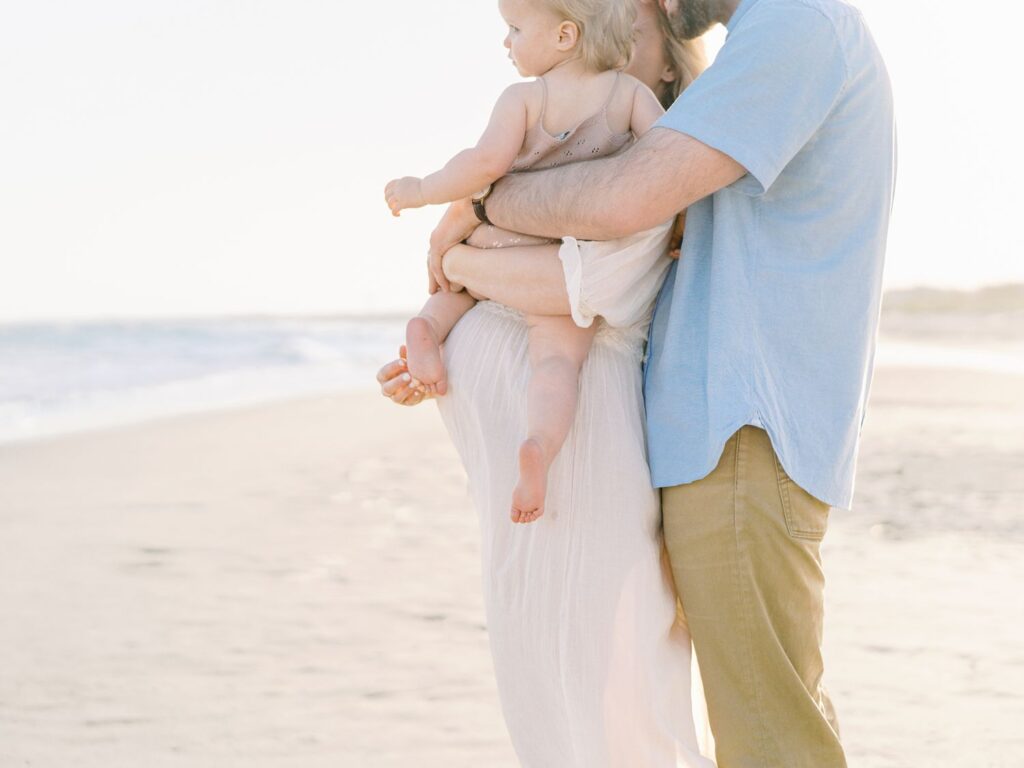
[[[534,87],[534,83],[516,83],[506,88],[476,146],[463,150],[441,170],[422,179],[407,176],[388,182],[384,197],[391,213],[397,216],[404,208],[462,200],[504,176],[522,147],[526,103]]]

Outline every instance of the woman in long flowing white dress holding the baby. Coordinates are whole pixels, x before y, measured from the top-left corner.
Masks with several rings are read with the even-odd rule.
[[[629,72],[669,100],[692,80],[699,51],[666,38],[655,3],[638,9]],[[486,253],[507,267],[521,263],[512,250]],[[548,294],[538,275],[559,283],[563,301],[566,293],[554,253],[546,258],[529,283],[508,273],[469,281],[505,303],[480,302],[452,332],[449,394],[438,399],[479,512],[487,628],[512,742],[527,768],[676,768],[679,759],[703,768],[712,763],[693,725],[690,639],[662,558],[646,464],[640,362],[649,302],[616,307],[630,322],[597,331],[575,423],[551,469],[548,514],[525,527],[508,519],[528,376],[518,310]],[[385,366],[382,390],[416,404],[422,394],[402,374],[399,361]]]

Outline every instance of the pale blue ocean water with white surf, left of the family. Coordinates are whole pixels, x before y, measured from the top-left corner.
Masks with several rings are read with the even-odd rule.
[[[0,326],[0,442],[373,389],[403,329],[397,317]]]

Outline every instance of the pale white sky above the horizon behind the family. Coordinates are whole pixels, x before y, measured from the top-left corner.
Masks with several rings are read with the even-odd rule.
[[[897,99],[887,286],[1024,281],[1020,4],[858,4]],[[418,306],[440,209],[384,183],[475,141],[503,36],[490,0],[0,0],[0,321]]]

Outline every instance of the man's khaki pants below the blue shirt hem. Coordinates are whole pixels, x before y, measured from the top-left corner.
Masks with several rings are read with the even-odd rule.
[[[743,427],[708,477],[665,488],[662,509],[719,768],[845,768],[821,686],[828,506]]]

